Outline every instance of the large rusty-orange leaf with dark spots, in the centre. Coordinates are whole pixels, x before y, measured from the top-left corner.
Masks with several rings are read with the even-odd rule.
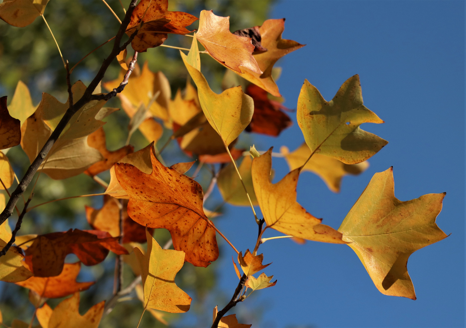
[[[173,247],[186,253],[185,261],[207,267],[219,256],[213,223],[202,208],[202,187],[173,168],[164,167],[151,148],[152,171],[115,164],[120,186],[130,196],[128,214],[139,224],[170,231]]]

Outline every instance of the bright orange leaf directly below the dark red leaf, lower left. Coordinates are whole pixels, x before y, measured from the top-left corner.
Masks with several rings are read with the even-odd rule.
[[[65,263],[62,273],[55,277],[31,277],[16,284],[33,290],[42,298],[64,297],[86,290],[95,284],[95,281],[77,282],[76,278],[80,270],[81,262]]]

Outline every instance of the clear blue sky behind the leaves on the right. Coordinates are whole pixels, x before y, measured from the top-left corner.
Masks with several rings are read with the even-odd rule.
[[[260,327],[465,327],[465,2],[282,1],[272,18],[283,17],[283,37],[307,44],[277,65],[285,105],[296,107],[304,79],[330,100],[359,74],[364,105],[385,121],[362,128],[390,142],[365,173],[343,179],[340,194],[303,173],[298,201],[338,228],[372,175],[393,166],[402,201],[446,192],[437,223],[451,236],[411,255],[416,301],[379,293],[347,246],[268,241],[260,251],[273,261],[265,272],[276,286],[230,313],[264,302]],[[280,138],[258,137],[256,147],[298,147],[303,137],[292,117]],[[288,167],[273,161],[276,182]],[[254,247],[250,209],[231,207],[216,224],[237,248]],[[229,256],[220,277],[227,295],[237,284]]]

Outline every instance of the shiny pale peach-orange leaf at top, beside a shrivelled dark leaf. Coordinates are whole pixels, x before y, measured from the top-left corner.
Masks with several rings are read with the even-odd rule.
[[[254,46],[251,38],[231,33],[229,16],[217,16],[212,10],[201,11],[196,37],[209,54],[226,67],[241,73],[239,66],[243,66],[256,74],[262,74],[252,55]]]

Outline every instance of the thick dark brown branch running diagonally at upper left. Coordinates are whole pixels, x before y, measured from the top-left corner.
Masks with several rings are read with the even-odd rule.
[[[137,0],[131,0],[130,7],[128,11],[126,12],[126,15],[123,19],[123,22],[120,26],[120,29],[118,30],[118,33],[115,37],[115,41],[113,44],[113,49],[110,53],[110,55],[103,61],[102,66],[100,67],[99,71],[96,74],[96,77],[92,82],[90,82],[89,87],[87,87],[86,91],[84,92],[84,95],[79,99],[73,106],[70,106],[65,114],[63,115],[62,119],[58,123],[57,127],[55,130],[52,132],[48,140],[45,142],[44,146],[42,147],[41,151],[37,155],[37,157],[34,159],[32,164],[27,168],[26,174],[24,174],[23,178],[21,179],[18,187],[13,191],[11,194],[10,199],[7,202],[7,206],[5,209],[1,212],[0,214],[0,224],[5,222],[8,217],[10,217],[13,214],[13,209],[16,206],[16,203],[20,199],[21,195],[24,193],[26,190],[27,186],[29,183],[32,181],[34,174],[37,172],[39,167],[42,164],[42,161],[45,159],[47,156],[48,152],[54,145],[55,141],[57,141],[58,137],[62,133],[63,129],[65,126],[68,124],[69,120],[71,117],[85,104],[87,104],[91,99],[92,93],[96,89],[97,85],[99,82],[103,79],[103,76],[105,75],[105,72],[107,71],[107,68],[110,66],[111,62],[115,59],[117,54],[120,53],[121,47],[125,47],[131,42],[132,38],[134,38],[134,33],[131,35],[130,39],[126,41],[123,46],[120,46],[121,40],[123,38],[123,35],[126,31],[126,28],[128,27],[128,24],[130,23],[131,20],[131,14],[133,13],[134,8],[136,7],[136,2]],[[1,255],[0,255],[1,256]]]

